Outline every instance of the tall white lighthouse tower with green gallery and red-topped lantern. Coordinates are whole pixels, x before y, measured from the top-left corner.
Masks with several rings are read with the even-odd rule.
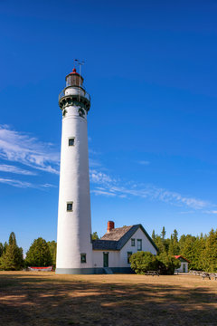
[[[59,96],[62,111],[56,273],[94,273],[87,113],[90,95],[76,69]]]

